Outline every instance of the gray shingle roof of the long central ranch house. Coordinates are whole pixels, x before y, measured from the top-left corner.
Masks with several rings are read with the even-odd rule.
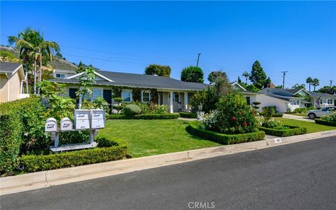
[[[97,71],[97,73],[109,78],[114,83],[109,81],[96,81],[98,85],[115,85],[125,87],[143,87],[143,88],[162,88],[174,90],[203,90],[209,85],[204,83],[186,83],[174,78],[167,78],[165,76],[153,76],[137,73],[121,73],[113,71]],[[79,83],[78,79],[54,78],[50,81],[59,83]]]

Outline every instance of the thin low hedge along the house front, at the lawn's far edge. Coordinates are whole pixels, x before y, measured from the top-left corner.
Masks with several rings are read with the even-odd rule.
[[[109,115],[106,116],[108,120],[165,120],[177,119],[180,115],[178,113],[165,113],[165,114],[145,114],[136,116],[123,116],[123,115]]]

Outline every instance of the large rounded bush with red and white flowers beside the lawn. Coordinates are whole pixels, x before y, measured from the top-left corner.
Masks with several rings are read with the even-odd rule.
[[[202,127],[223,134],[245,134],[255,132],[258,121],[251,113],[251,107],[240,94],[228,94],[216,104],[216,110],[202,120]]]

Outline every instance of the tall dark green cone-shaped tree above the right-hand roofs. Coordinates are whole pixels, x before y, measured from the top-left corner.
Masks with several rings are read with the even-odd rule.
[[[270,78],[267,78],[266,73],[264,69],[262,69],[262,66],[260,65],[260,62],[256,60],[252,65],[251,75],[249,76],[249,79],[253,83],[253,85],[259,89],[262,89],[262,87],[267,87],[267,83],[270,83]]]

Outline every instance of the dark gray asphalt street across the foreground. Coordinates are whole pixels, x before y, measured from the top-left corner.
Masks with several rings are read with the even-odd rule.
[[[1,210],[336,209],[336,137],[3,195],[0,199]]]

